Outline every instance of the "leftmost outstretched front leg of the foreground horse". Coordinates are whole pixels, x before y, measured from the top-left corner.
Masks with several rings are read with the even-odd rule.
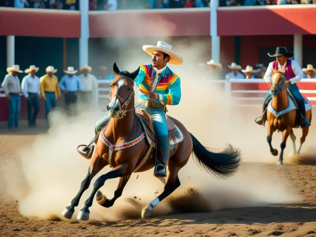
[[[91,180],[93,177],[99,173],[103,167],[105,167],[108,163],[104,161],[100,156],[95,155],[94,158],[92,158],[90,167],[88,169],[88,174],[85,179],[83,179],[80,190],[77,193],[76,197],[71,200],[71,205],[66,207],[65,210],[62,212],[62,216],[64,216],[67,219],[71,219],[72,215],[74,214],[75,207],[78,206],[79,200],[83,194],[84,191],[86,191],[90,185]]]

